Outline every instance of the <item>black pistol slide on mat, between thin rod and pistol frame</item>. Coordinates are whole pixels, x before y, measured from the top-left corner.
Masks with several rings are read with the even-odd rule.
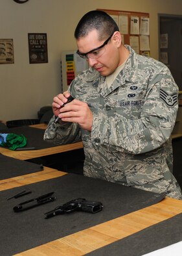
[[[19,203],[19,205],[16,205],[13,208],[14,212],[22,212],[22,211],[37,207],[39,205],[43,205],[43,203],[52,202],[56,199],[56,198],[52,198],[52,194],[54,194],[54,192],[45,194],[43,196],[39,196],[38,198],[30,199],[30,200],[25,201],[23,203]]]

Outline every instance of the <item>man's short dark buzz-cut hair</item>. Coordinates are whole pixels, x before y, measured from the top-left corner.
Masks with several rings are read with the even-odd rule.
[[[111,36],[113,32],[119,31],[117,23],[109,14],[102,10],[91,10],[78,22],[74,31],[74,38],[87,36],[93,29],[98,31],[98,40],[104,40],[107,36]]]

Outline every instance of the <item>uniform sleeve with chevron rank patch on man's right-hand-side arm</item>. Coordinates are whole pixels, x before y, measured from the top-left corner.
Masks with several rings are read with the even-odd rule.
[[[167,68],[155,73],[148,83],[150,86],[138,119],[119,114],[94,116],[93,144],[115,146],[117,151],[139,154],[160,147],[170,138],[178,109],[177,85]]]

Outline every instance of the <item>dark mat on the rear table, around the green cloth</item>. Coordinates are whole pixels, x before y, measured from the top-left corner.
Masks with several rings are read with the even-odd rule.
[[[43,140],[43,134],[45,133],[44,129],[38,129],[29,126],[21,126],[15,128],[9,128],[8,130],[0,130],[0,133],[15,133],[15,134],[23,134],[27,138],[27,146],[26,147],[34,147],[35,149],[43,149],[47,147],[55,147],[58,146],[53,144],[52,142],[47,142]]]

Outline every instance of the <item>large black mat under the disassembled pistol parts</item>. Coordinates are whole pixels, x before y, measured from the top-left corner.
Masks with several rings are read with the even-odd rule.
[[[6,201],[6,198],[23,189],[32,190],[32,194]],[[18,203],[52,191],[55,192],[56,201],[28,211],[13,212],[13,207]],[[44,218],[45,212],[74,198],[101,201],[104,209],[95,214],[73,212],[47,220]],[[137,211],[157,203],[161,199],[163,196],[159,194],[76,174],[67,174],[55,179],[21,186],[21,188],[2,191],[0,192],[1,255],[12,255],[34,248],[129,212]]]

